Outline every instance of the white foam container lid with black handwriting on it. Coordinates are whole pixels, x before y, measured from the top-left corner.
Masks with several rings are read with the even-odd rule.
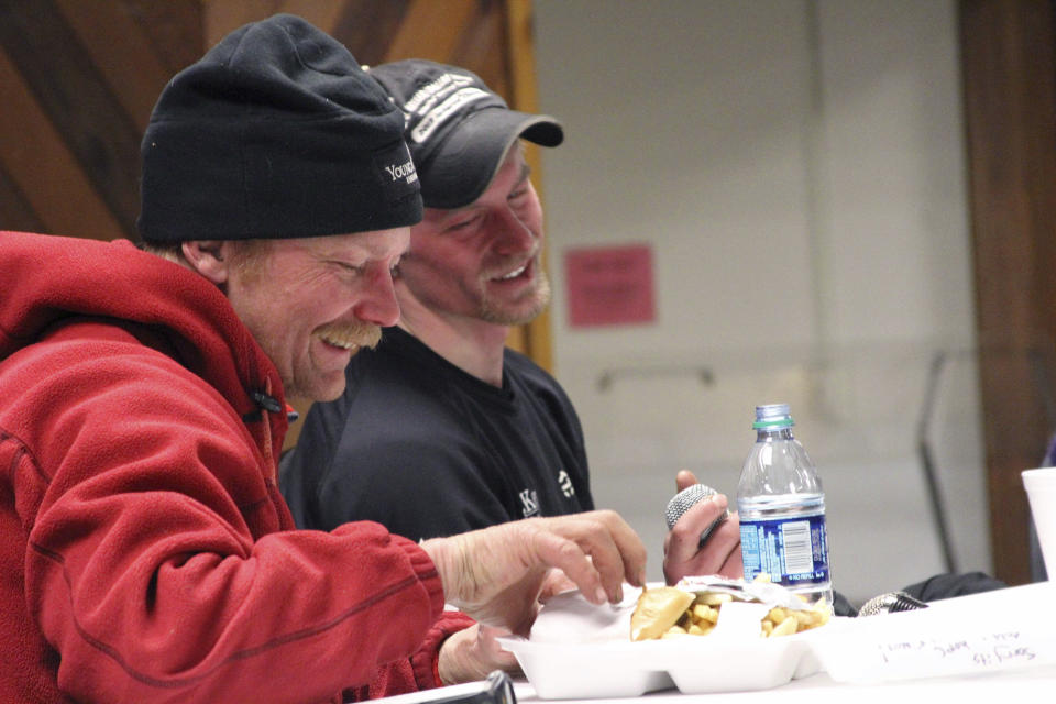
[[[1043,582],[854,619],[814,644],[837,682],[886,682],[1056,663],[1056,584]]]

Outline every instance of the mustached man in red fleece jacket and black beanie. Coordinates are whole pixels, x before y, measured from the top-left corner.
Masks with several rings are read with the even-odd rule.
[[[563,571],[640,584],[610,512],[421,544],[295,530],[285,395],[340,395],[421,217],[403,116],[298,18],[177,75],[141,251],[0,233],[0,702],[338,702],[486,672]]]

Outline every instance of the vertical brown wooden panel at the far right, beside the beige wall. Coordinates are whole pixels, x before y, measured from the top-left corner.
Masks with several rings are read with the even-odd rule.
[[[996,574],[1010,584],[1030,579],[1020,472],[1038,465],[1054,429],[1038,375],[1056,340],[1053,37],[1052,2],[960,2],[990,526]]]

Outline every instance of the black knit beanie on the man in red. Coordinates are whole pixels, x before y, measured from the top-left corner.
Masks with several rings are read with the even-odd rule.
[[[421,220],[404,116],[339,42],[277,14],[162,91],[142,144],[147,242],[307,238]]]

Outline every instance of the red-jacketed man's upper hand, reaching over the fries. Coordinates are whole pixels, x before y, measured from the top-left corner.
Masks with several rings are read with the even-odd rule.
[[[645,584],[646,548],[612,510],[528,518],[421,543],[444,600],[479,622],[527,636],[552,568],[595,604]]]

